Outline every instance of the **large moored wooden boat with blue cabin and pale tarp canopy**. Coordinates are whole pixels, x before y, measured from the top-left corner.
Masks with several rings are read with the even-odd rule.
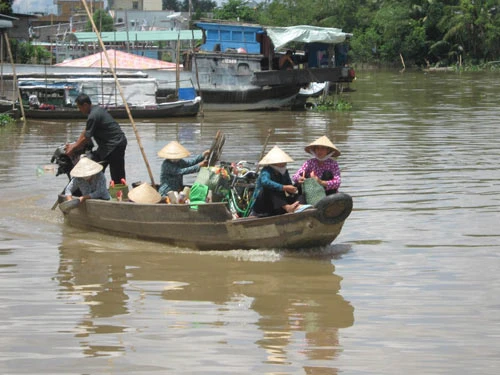
[[[307,96],[298,95],[311,82],[344,85],[355,73],[348,66],[333,66],[336,45],[351,36],[340,29],[312,26],[264,27],[234,22],[197,22],[203,30],[199,51],[184,54],[183,74],[199,82],[207,111],[249,111],[302,108]],[[294,55],[296,69],[280,70],[276,50],[303,46],[307,53]],[[320,57],[321,56],[321,57]],[[159,82],[164,72],[150,72]],[[170,80],[172,82],[172,80]],[[159,92],[172,92],[159,85]]]

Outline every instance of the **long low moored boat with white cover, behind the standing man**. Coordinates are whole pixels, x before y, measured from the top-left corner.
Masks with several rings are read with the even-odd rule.
[[[196,116],[200,110],[201,98],[194,88],[180,88],[175,100],[158,103],[157,81],[154,78],[121,78],[120,86],[127,98],[127,105],[134,118],[165,118]],[[116,83],[109,77],[46,77],[20,78],[19,90],[23,97],[26,118],[33,119],[85,119],[74,101],[78,94],[85,93],[92,103],[98,104],[116,119],[128,118]],[[171,95],[174,97],[174,95]],[[30,98],[38,102],[33,106]]]

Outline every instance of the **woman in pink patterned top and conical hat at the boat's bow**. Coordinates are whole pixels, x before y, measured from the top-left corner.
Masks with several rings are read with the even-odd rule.
[[[307,145],[304,150],[312,156],[292,177],[295,184],[302,184],[306,178],[314,178],[324,187],[326,195],[334,194],[340,187],[340,169],[333,158],[340,156],[340,151],[326,137],[322,136]],[[301,198],[302,201],[302,198]]]

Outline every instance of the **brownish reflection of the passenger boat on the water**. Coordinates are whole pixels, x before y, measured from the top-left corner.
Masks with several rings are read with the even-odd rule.
[[[127,350],[137,340],[131,329],[166,341],[179,334],[196,340],[203,331],[216,338],[210,350],[256,345],[267,365],[297,366],[303,358],[308,374],[324,374],[331,372],[316,372],[311,363],[336,358],[338,330],[354,323],[330,259],[199,253],[104,235],[86,239],[71,228],[64,228],[59,251],[59,298],[88,308],[75,327],[86,356]],[[243,330],[248,325],[260,335]]]

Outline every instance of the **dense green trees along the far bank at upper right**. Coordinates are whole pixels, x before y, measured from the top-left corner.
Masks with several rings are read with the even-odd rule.
[[[498,0],[227,0],[214,18],[353,33],[351,61],[449,65],[500,59]]]

